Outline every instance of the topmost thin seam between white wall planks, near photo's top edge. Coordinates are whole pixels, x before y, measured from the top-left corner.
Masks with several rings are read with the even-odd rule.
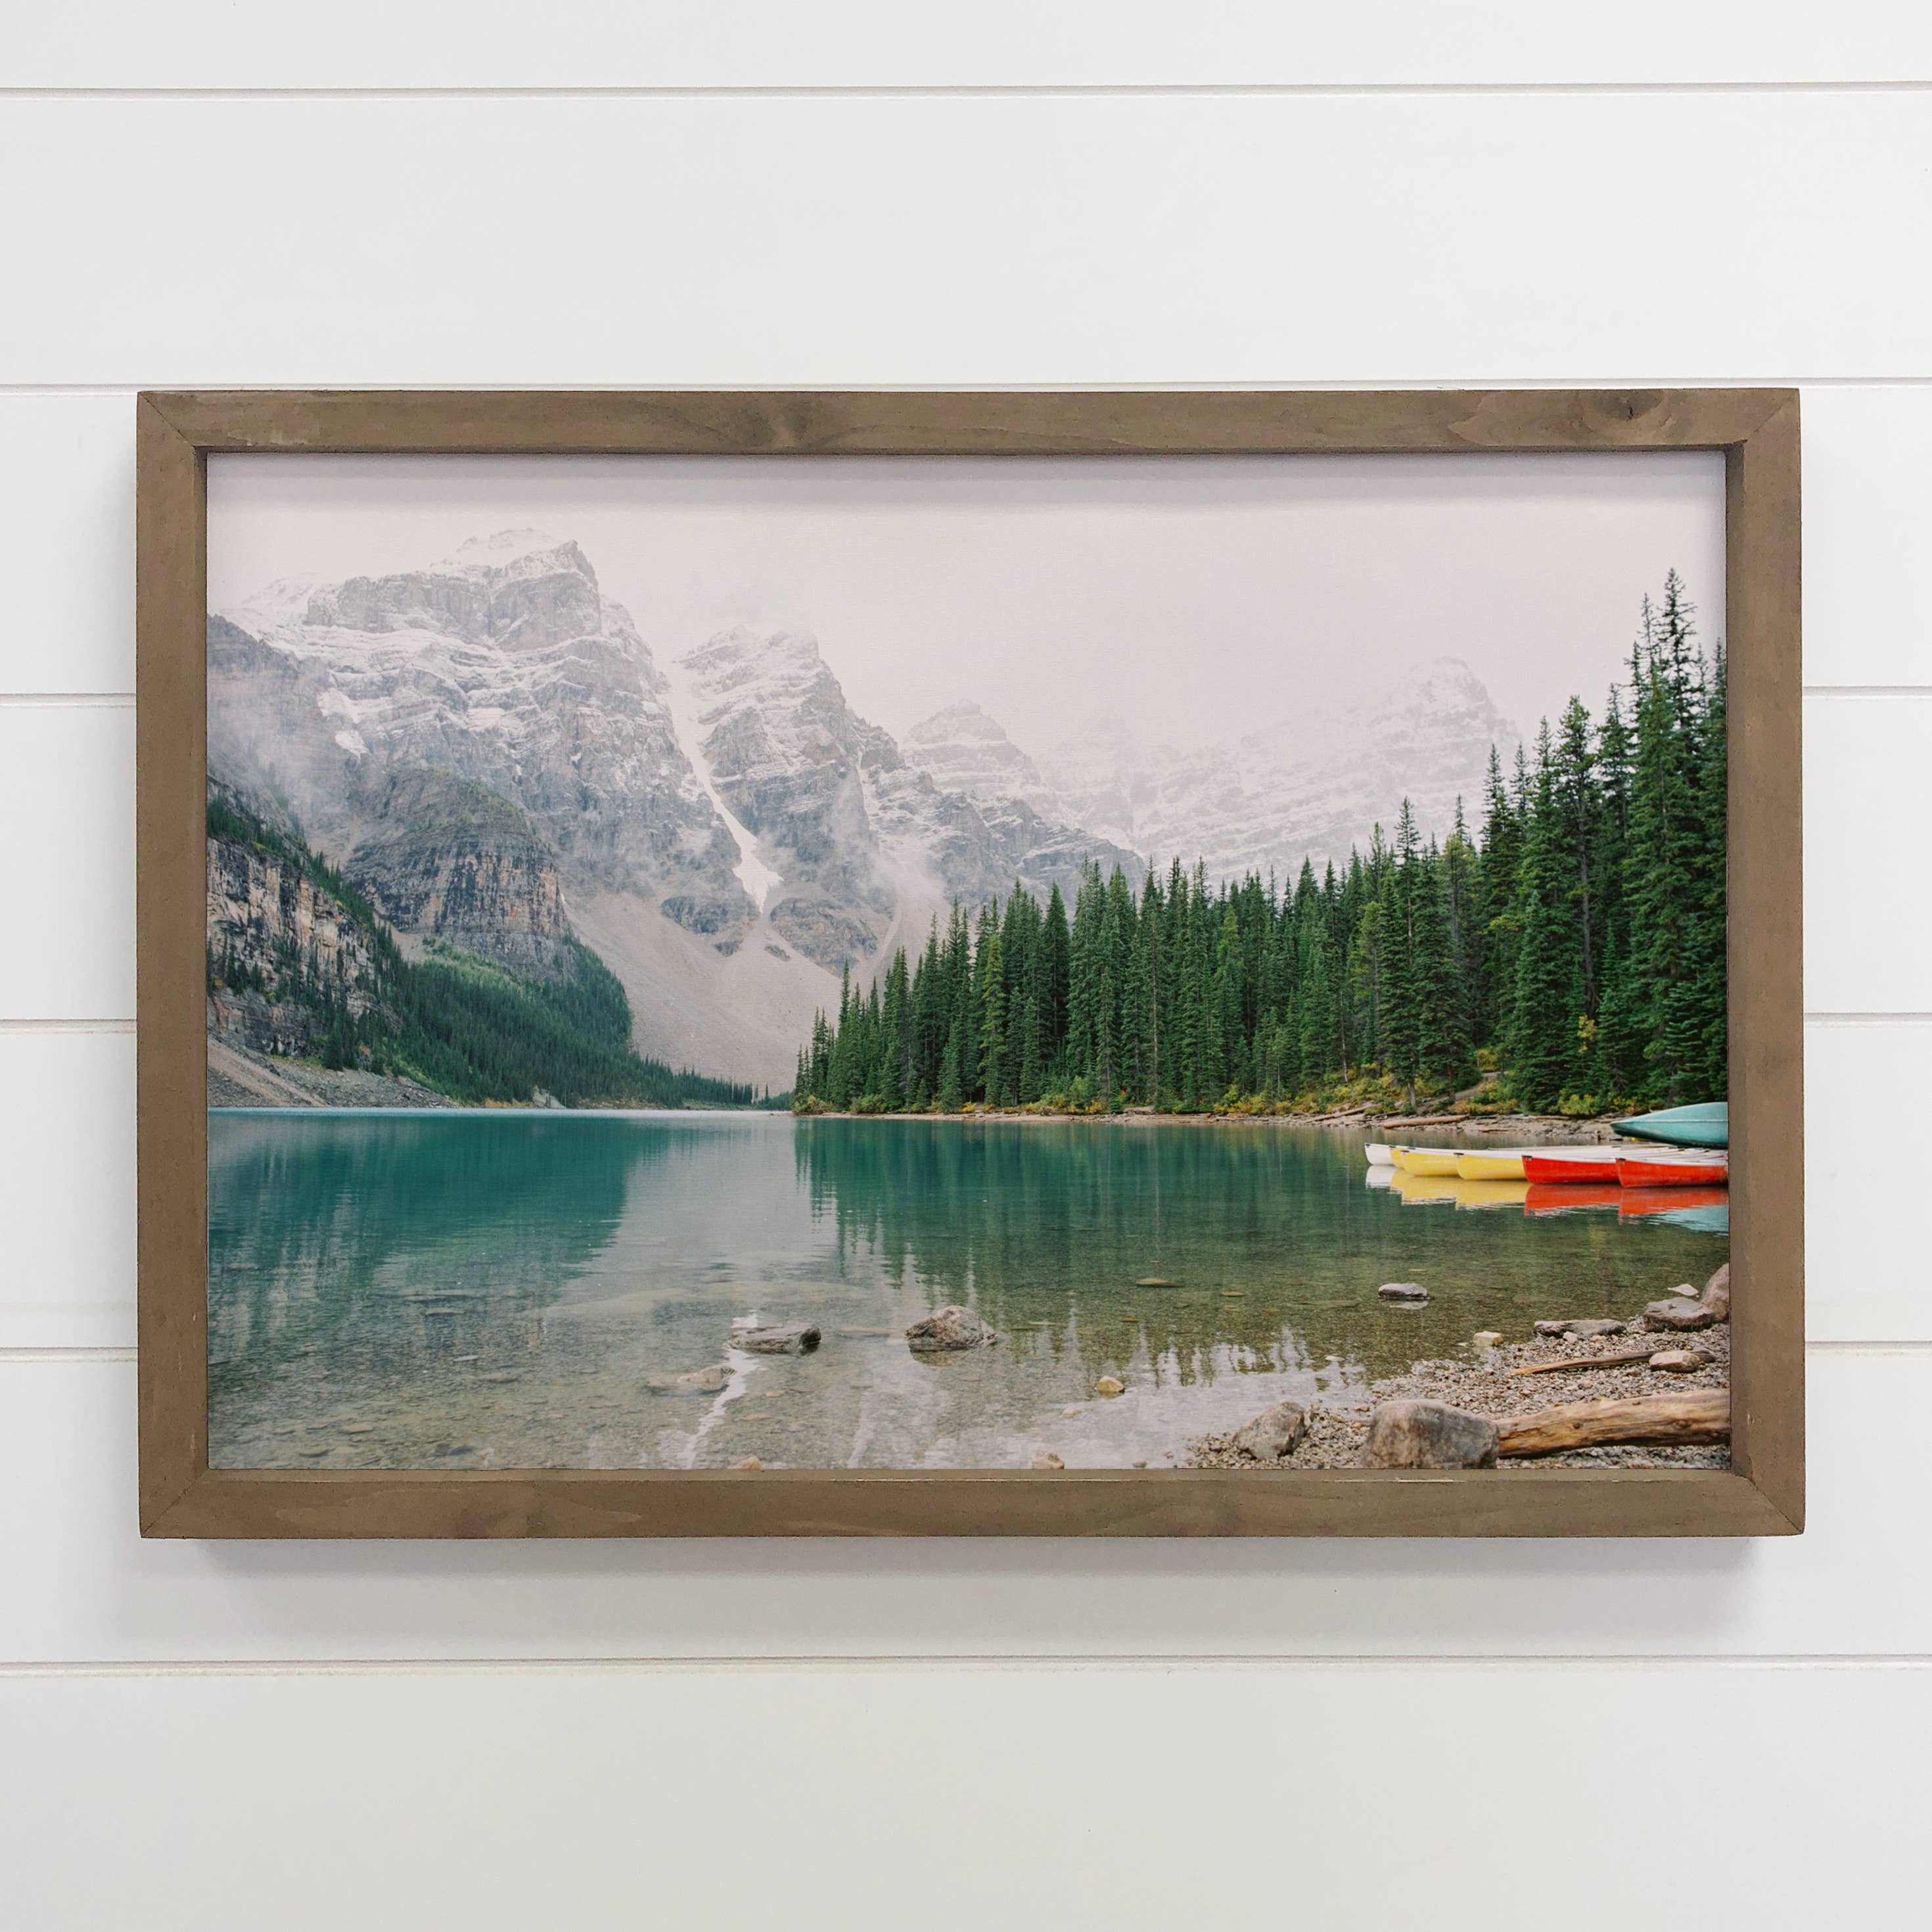
[[[0,100],[1430,100],[1918,95],[1928,79],[1833,81],[860,81],[537,87],[0,87]]]

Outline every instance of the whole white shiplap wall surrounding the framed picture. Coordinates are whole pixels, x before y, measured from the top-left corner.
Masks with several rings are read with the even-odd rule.
[[[10,15],[0,1920],[1915,1920],[1928,21]],[[135,386],[1631,381],[1804,386],[1803,1540],[139,1542]]]

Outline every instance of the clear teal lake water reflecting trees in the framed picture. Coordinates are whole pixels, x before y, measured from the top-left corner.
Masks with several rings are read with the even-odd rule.
[[[1478,1329],[1629,1316],[1727,1250],[1721,1206],[1530,1213],[1520,1184],[1370,1186],[1362,1138],[213,1111],[213,1463],[1010,1468],[1053,1449],[1159,1468],[1190,1435],[1283,1397],[1356,1401]],[[1432,1298],[1385,1306],[1383,1281]],[[906,1323],[945,1302],[1001,1343],[914,1356]],[[728,1352],[750,1318],[825,1343]],[[649,1387],[707,1364],[723,1391]],[[1097,1397],[1101,1376],[1128,1393]]]

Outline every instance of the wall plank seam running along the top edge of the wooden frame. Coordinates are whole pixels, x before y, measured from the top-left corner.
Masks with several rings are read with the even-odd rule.
[[[1385,375],[1385,377],[1314,377],[1300,383],[1285,383],[1279,379],[1258,377],[1258,375],[1231,375],[1231,377],[1194,377],[1186,381],[1177,381],[1169,377],[1117,377],[1107,383],[1095,383],[1084,377],[1068,377],[1055,381],[1051,377],[1009,377],[997,383],[972,383],[972,381],[949,381],[935,379],[925,383],[864,383],[864,381],[825,381],[821,377],[773,377],[761,373],[755,377],[744,377],[738,381],[723,381],[719,377],[703,377],[699,381],[680,379],[674,375],[659,375],[649,383],[638,379],[607,377],[595,383],[576,383],[558,381],[545,377],[531,377],[520,383],[373,383],[373,381],[346,381],[340,377],[284,377],[278,381],[255,381],[238,383],[234,375],[226,377],[166,377],[166,379],[143,379],[135,383],[0,383],[0,396],[137,396],[141,390],[160,388],[160,390],[269,390],[269,388],[296,388],[296,390],[354,390],[357,394],[381,396],[388,392],[408,394],[412,390],[435,388],[452,390],[464,396],[497,396],[497,394],[527,394],[529,390],[556,390],[558,394],[607,394],[618,392],[626,394],[630,390],[688,390],[692,394],[736,394],[738,390],[821,390],[821,388],[850,388],[862,394],[875,396],[923,396],[933,392],[945,394],[985,394],[985,396],[1009,396],[1009,394],[1111,394],[1115,390],[1132,390],[1136,394],[1173,394],[1190,396],[1198,392],[1213,390],[1254,390],[1258,394],[1279,394],[1279,396],[1298,396],[1306,392],[1345,392],[1352,394],[1356,390],[1381,390],[1381,388],[1416,388],[1416,390],[1435,390],[1435,388],[1928,388],[1932,386],[1932,375],[1747,375],[1741,377],[1737,371],[1729,375],[1658,375],[1648,371],[1644,375],[1538,375],[1532,379],[1524,377],[1443,377],[1443,375],[1424,375],[1424,377],[1405,377],[1405,375]]]

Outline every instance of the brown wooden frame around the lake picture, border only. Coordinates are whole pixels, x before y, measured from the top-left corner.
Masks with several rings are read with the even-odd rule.
[[[139,398],[145,1536],[1787,1536],[1804,1520],[1799,398],[1737,390],[191,392]],[[1721,450],[1735,1204],[1729,1470],[209,1466],[207,458]]]

